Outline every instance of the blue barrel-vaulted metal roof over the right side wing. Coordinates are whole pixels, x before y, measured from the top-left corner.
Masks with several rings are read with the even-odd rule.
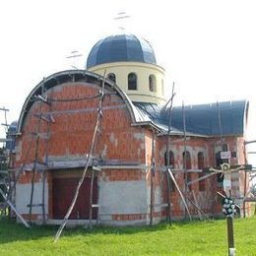
[[[205,136],[242,136],[245,132],[249,102],[234,100],[209,104],[195,104],[184,107],[175,106],[169,114],[169,108],[152,103],[134,102],[145,115],[159,125],[168,126],[171,116],[171,129],[183,131],[183,115],[186,131]],[[165,128],[166,129],[166,128]]]

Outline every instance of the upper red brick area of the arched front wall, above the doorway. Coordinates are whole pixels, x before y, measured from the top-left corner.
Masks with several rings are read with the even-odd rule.
[[[92,84],[65,84],[46,92],[48,97],[67,99],[83,96],[96,96],[98,87]],[[47,124],[40,121],[38,160],[44,161],[46,140],[48,140],[49,158],[80,156],[89,153],[96,125],[98,97],[79,101],[53,101],[51,106],[41,101],[32,104],[18,139],[18,157],[16,164],[34,160],[35,139],[32,133],[37,131],[38,118],[34,114],[42,112],[44,116],[52,114],[54,123],[50,124],[47,139]],[[130,113],[119,96],[105,96],[103,100],[101,134],[96,142],[96,155],[102,159],[131,160],[144,162],[145,149],[143,133],[140,128],[131,127]]]

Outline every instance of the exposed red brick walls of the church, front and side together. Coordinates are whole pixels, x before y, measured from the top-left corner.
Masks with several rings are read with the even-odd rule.
[[[85,96],[96,96],[99,87],[90,83],[65,83],[53,87],[46,91],[48,98],[54,98],[51,105],[42,101],[33,101],[30,111],[22,129],[22,135],[17,139],[17,161],[16,166],[21,164],[31,164],[35,158],[36,139],[34,133],[38,134],[38,152],[37,161],[45,162],[46,157],[49,161],[71,161],[85,160],[86,154],[90,152],[93,133],[96,125],[96,114],[98,107],[98,97],[89,100],[68,100],[71,98],[81,98]],[[167,195],[164,154],[166,152],[166,136],[159,136],[158,132],[149,126],[132,126],[131,112],[128,110],[125,100],[118,96],[116,92],[104,96],[102,103],[102,120],[98,136],[96,137],[96,148],[94,158],[100,163],[115,165],[140,165],[138,168],[103,168],[98,173],[98,182],[100,186],[112,196],[122,191],[125,186],[127,193],[131,193],[129,200],[134,200],[136,193],[134,188],[140,190],[139,196],[142,196],[143,206],[136,208],[131,203],[130,209],[114,208],[109,213],[104,209],[104,215],[109,215],[104,221],[109,222],[127,222],[143,221],[148,222],[150,215],[151,201],[154,205],[153,218],[156,220],[164,219],[166,208],[160,206],[170,198],[172,204],[172,214],[174,218],[182,219],[184,217],[184,206],[176,189]],[[59,100],[59,101],[58,101]],[[47,125],[43,120],[38,119],[36,114],[44,117],[51,116],[53,122]],[[39,122],[39,126],[38,126]],[[241,138],[226,137],[224,143],[228,144],[229,150],[236,152],[237,156],[231,160],[231,163],[243,163],[243,140]],[[154,147],[154,148],[153,148]],[[191,169],[198,169],[198,154],[204,154],[204,165],[215,166],[216,153],[220,150],[220,138],[188,136],[186,142],[187,151],[191,157]],[[183,172],[183,136],[171,136],[169,150],[174,154],[175,179],[182,191],[185,191],[185,180]],[[155,164],[155,172],[151,169]],[[32,168],[32,167],[31,167]],[[72,171],[72,170],[71,170]],[[192,171],[190,179],[199,177],[199,173]],[[52,170],[47,170],[46,182],[48,184],[48,217],[52,218]],[[233,190],[240,193],[243,183],[243,174],[233,175]],[[41,182],[41,173],[35,174],[35,182]],[[151,198],[151,186],[153,180],[153,198]],[[31,184],[32,173],[24,171],[18,184]],[[119,190],[110,191],[107,186]],[[190,186],[187,196],[194,201],[197,199],[201,209],[209,215],[215,215],[221,212],[221,206],[218,203],[216,192],[222,188],[218,187],[216,175],[205,180],[205,190],[201,191],[199,182]],[[193,193],[192,193],[193,191]],[[100,191],[99,191],[100,193]],[[134,194],[135,197],[134,197]],[[27,195],[30,195],[28,191]],[[108,195],[106,195],[108,196]],[[133,197],[133,198],[132,198]],[[104,199],[104,198],[103,198]],[[137,198],[136,198],[137,199]],[[116,201],[122,204],[122,198],[116,197]],[[125,202],[126,205],[129,202]],[[192,215],[197,215],[196,208],[188,203]],[[134,208],[133,208],[134,207]],[[100,211],[99,211],[100,213]],[[23,213],[22,213],[23,214]],[[28,215],[24,213],[27,218]],[[36,216],[32,216],[36,219]]]

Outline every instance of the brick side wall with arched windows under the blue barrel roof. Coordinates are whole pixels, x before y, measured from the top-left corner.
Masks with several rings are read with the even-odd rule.
[[[158,154],[157,159],[157,169],[164,169],[164,154],[166,152],[166,137],[158,137]],[[235,152],[237,157],[230,160],[231,164],[244,163],[243,155],[243,141],[236,137],[226,137],[224,138],[224,143],[228,145],[228,150]],[[216,153],[221,147],[220,138],[200,138],[200,137],[188,137],[186,142],[187,151],[190,153],[191,157],[191,169],[198,169],[198,153],[202,152],[204,154],[204,166],[216,166]],[[170,140],[169,150],[174,154],[174,176],[182,191],[185,191],[185,179],[183,172],[183,157],[182,153],[184,151],[184,139],[179,136],[172,136]],[[162,201],[166,202],[166,177],[160,172],[161,175],[161,187],[162,187]],[[194,180],[199,178],[199,173],[192,172],[189,174],[190,179]],[[158,175],[157,175],[158,176]],[[232,174],[232,191],[233,195],[238,195],[241,190],[241,185],[238,185],[238,180],[243,180],[244,172],[233,173]],[[157,178],[158,179],[158,178]],[[158,181],[156,181],[158,183]],[[193,193],[192,193],[193,191]],[[199,182],[192,184],[189,187],[187,195],[194,201],[197,199],[198,205],[201,209],[209,215],[221,214],[222,205],[217,197],[217,191],[223,192],[223,187],[217,183],[217,176],[213,175],[205,180],[205,190],[200,191]],[[173,217],[182,218],[184,216],[184,206],[180,200],[177,190],[170,192],[170,202],[172,203],[172,214]],[[193,215],[197,215],[197,210],[195,206],[188,202],[190,212]]]

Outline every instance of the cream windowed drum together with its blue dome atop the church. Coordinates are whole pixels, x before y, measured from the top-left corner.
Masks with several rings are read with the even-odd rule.
[[[92,48],[87,69],[115,82],[132,101],[162,104],[164,70],[149,41],[134,34],[107,36]]]

